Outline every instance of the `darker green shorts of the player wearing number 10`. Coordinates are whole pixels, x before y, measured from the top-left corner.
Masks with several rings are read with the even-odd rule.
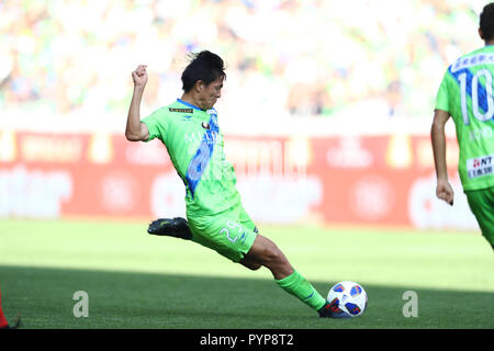
[[[465,194],[482,235],[494,246],[494,186],[465,191]]]

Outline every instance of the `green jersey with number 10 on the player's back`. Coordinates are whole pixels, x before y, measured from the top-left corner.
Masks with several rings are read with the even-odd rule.
[[[464,191],[494,186],[493,75],[494,46],[476,49],[448,67],[436,99],[454,121]]]

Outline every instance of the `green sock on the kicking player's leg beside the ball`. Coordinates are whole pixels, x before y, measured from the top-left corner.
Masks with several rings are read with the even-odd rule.
[[[312,286],[312,284],[297,271],[293,271],[292,274],[279,281],[276,280],[276,282],[285,292],[296,296],[300,301],[315,310],[321,309],[326,303],[326,298],[321,296],[314,286]]]

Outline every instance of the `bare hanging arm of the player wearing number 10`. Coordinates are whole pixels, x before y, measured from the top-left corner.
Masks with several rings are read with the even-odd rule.
[[[454,192],[448,181],[448,167],[446,165],[446,135],[445,125],[450,114],[447,111],[436,110],[430,129],[433,139],[434,163],[436,167],[436,196],[452,205]]]

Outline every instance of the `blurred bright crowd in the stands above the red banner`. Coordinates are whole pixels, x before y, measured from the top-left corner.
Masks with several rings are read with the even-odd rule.
[[[126,114],[138,64],[157,107],[180,97],[188,53],[210,49],[227,64],[229,112],[430,117],[447,66],[483,45],[483,4],[2,0],[0,111]]]

